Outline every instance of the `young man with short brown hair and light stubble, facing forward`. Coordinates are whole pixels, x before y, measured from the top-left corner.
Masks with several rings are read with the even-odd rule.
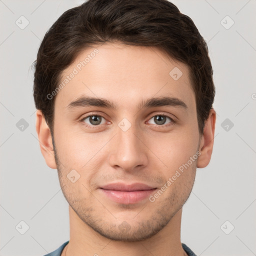
[[[205,41],[166,0],[88,0],[45,34],[36,131],[69,203],[47,255],[195,255],[180,241],[196,167],[211,157],[215,88]]]

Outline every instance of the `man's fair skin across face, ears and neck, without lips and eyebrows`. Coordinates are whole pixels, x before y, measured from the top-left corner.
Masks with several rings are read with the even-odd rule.
[[[57,168],[69,203],[70,239],[62,255],[186,255],[180,241],[182,206],[191,192],[196,167],[210,161],[215,111],[210,110],[200,136],[185,64],[153,47],[112,42],[96,48],[98,54],[55,96],[54,144],[41,111],[36,112],[41,152],[47,165]],[[62,78],[93,49],[80,52]],[[183,73],[178,80],[169,75],[174,67]],[[68,109],[81,95],[108,99],[117,108]],[[187,109],[138,108],[141,100],[160,96],[176,97]],[[100,124],[94,125],[89,118],[80,121],[93,114],[103,116]],[[154,117],[161,114],[176,122],[166,117],[159,124]],[[126,131],[118,126],[123,118],[131,124]],[[200,151],[198,158],[154,202],[146,198],[121,204],[99,189],[114,181],[142,182],[160,189],[196,151]],[[74,183],[66,176],[72,169],[80,175]],[[120,228],[122,223],[126,230]]]

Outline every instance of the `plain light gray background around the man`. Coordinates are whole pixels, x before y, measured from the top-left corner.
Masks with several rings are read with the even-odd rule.
[[[43,255],[69,239],[68,204],[35,131],[31,63],[46,30],[81,2],[0,0],[0,255]],[[256,255],[256,0],[172,2],[207,41],[217,112],[211,162],[197,169],[181,241],[197,255]]]

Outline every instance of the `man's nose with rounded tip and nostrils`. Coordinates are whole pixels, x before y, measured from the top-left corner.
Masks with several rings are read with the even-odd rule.
[[[136,125],[131,125],[126,131],[117,126],[116,135],[110,141],[109,165],[129,172],[145,167],[148,163],[149,149],[144,140]]]

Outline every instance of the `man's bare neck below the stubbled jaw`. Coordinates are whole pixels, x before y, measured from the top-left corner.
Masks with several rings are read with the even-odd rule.
[[[61,256],[78,255],[111,255],[119,256],[147,256],[187,255],[180,242],[180,208],[158,233],[152,237],[135,242],[115,241],[100,235],[84,223],[69,206],[70,239]]]

